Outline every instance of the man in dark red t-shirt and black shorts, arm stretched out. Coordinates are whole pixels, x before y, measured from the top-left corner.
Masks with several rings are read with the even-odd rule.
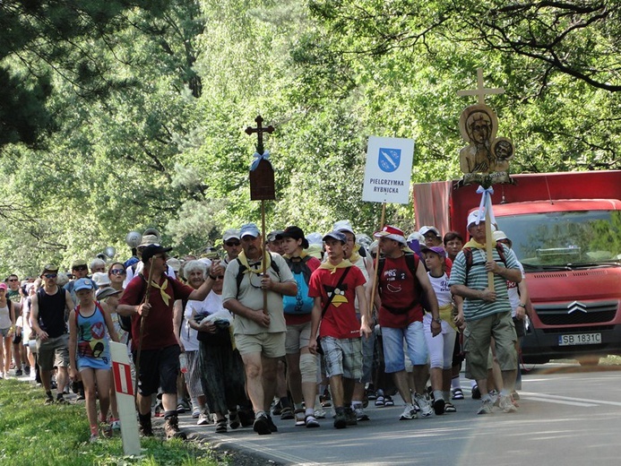
[[[153,436],[151,428],[151,394],[162,389],[164,406],[164,430],[167,439],[185,438],[179,431],[177,420],[177,375],[179,374],[179,354],[181,349],[173,332],[173,304],[176,299],[195,299],[202,301],[213,286],[212,275],[199,289],[193,289],[177,279],[166,275],[171,247],[157,244],[149,245],[142,251],[142,273],[137,274],[128,284],[119,301],[117,312],[132,316],[132,349],[134,360],[140,348],[140,372],[138,375],[138,419],[143,436]],[[151,263],[153,264],[151,267]],[[151,272],[150,272],[151,271]],[[213,271],[216,275],[223,271]],[[151,273],[151,275],[150,275]],[[144,302],[147,281],[151,280],[149,302]],[[142,339],[140,327],[144,321]],[[140,346],[139,346],[140,345]]]

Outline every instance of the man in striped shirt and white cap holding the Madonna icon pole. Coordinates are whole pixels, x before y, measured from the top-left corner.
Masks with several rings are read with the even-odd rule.
[[[478,414],[489,414],[493,408],[487,393],[487,358],[492,337],[503,373],[499,406],[505,412],[516,410],[511,400],[517,373],[516,335],[506,281],[522,281],[518,260],[509,247],[499,243],[492,251],[494,260],[487,261],[485,222],[484,209],[470,212],[467,221],[470,241],[455,258],[449,280],[453,295],[464,298],[466,376],[476,379],[482,393]],[[489,288],[487,272],[493,273],[494,290]]]

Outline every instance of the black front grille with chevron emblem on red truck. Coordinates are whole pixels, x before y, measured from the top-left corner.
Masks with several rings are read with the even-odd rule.
[[[565,305],[539,305],[535,311],[545,325],[599,324],[614,320],[617,301],[582,303],[574,301]]]

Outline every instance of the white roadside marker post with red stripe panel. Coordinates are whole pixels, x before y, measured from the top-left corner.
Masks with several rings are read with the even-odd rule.
[[[137,387],[134,387],[127,347],[123,343],[110,341],[110,355],[112,356],[112,377],[116,390],[116,406],[121,421],[123,453],[140,456],[140,434],[134,400],[134,388],[137,389]]]

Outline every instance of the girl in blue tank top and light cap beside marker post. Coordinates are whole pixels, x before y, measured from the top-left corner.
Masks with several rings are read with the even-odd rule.
[[[91,442],[99,439],[97,395],[99,394],[99,422],[103,433],[111,435],[106,425],[110,406],[110,348],[108,335],[118,341],[112,318],[95,300],[91,280],[75,280],[73,290],[78,306],[69,316],[69,358],[73,380],[82,379],[86,396],[86,415],[91,426]],[[106,332],[108,329],[108,332]]]

